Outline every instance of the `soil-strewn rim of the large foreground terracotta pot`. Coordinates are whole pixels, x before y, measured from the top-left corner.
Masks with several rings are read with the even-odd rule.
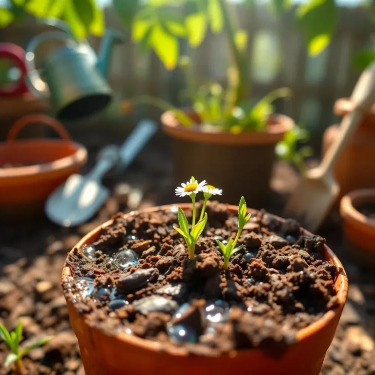
[[[171,208],[177,209],[177,207],[181,207],[182,209],[188,209],[188,208],[191,208],[191,204],[165,205],[165,206],[151,207],[151,208],[146,208],[146,209],[142,209],[142,210],[131,211],[129,213],[124,214],[124,217],[137,215],[140,212],[153,212],[153,211],[157,211],[157,210],[170,210]],[[228,210],[232,211],[232,212],[237,212],[238,207],[229,205]],[[248,211],[252,212],[252,213],[258,212],[257,210],[251,209],[251,208],[248,209]],[[282,218],[280,218],[276,215],[272,215],[272,214],[270,214],[270,215],[274,218],[277,218],[278,220],[284,221],[284,219],[282,219]],[[94,237],[96,235],[99,235],[100,231],[102,229],[112,225],[113,222],[114,222],[114,219],[112,218],[111,220],[108,220],[104,224],[102,224],[102,225],[98,226],[97,228],[91,230],[89,233],[87,233],[76,244],[76,246],[73,247],[73,249],[71,251],[73,251],[75,248],[80,248],[84,244],[89,243],[89,241],[91,240],[92,237]],[[303,229],[303,231],[304,231],[305,234],[312,235],[312,233],[310,233],[306,229]],[[315,332],[323,329],[324,327],[328,326],[329,324],[331,324],[331,322],[334,320],[336,314],[340,313],[342,307],[344,306],[344,304],[346,302],[347,296],[348,296],[349,283],[348,283],[348,277],[346,275],[346,272],[345,272],[340,260],[334,254],[334,252],[327,245],[324,245],[324,248],[325,248],[326,258],[328,256],[328,259],[340,270],[340,272],[337,276],[337,279],[336,279],[337,281],[335,282],[335,285],[339,284],[339,288],[336,292],[336,296],[337,296],[337,299],[338,299],[339,306],[337,306],[333,310],[330,310],[330,311],[326,312],[320,319],[318,319],[316,322],[312,323],[308,327],[306,327],[302,330],[299,330],[297,332],[297,335],[296,335],[297,336],[296,344],[303,341],[304,339],[307,339],[313,333],[315,333]],[[63,281],[64,277],[67,277],[67,276],[71,276],[70,269],[69,269],[69,267],[64,266],[63,269],[62,269],[62,281]],[[64,293],[64,297],[66,299],[65,293]],[[73,306],[73,308],[75,308],[75,306]],[[124,341],[127,344],[137,346],[140,349],[156,351],[156,352],[160,351],[160,349],[161,349],[160,343],[155,342],[155,341],[151,341],[151,340],[146,340],[146,339],[137,337],[137,336],[132,335],[132,334],[119,333],[115,337],[116,337],[116,339]],[[248,352],[248,351],[257,351],[257,350],[254,350],[254,349],[240,350],[238,352],[243,353],[243,352]],[[168,350],[168,354],[184,356],[184,355],[186,355],[186,352],[183,348],[175,347],[171,350]]]

